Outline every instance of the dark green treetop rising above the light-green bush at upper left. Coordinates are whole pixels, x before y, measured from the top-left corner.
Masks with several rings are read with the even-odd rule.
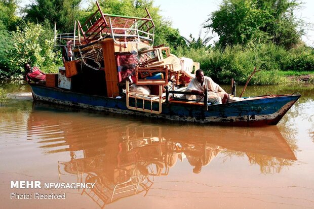
[[[73,31],[74,21],[80,12],[82,0],[35,0],[27,5],[23,12],[26,13],[24,19],[35,23],[49,21],[60,32]]]

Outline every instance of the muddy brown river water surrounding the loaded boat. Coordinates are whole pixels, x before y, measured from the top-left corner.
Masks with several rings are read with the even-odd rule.
[[[91,112],[1,88],[11,98],[0,104],[1,208],[314,208],[313,86],[248,87],[244,96],[302,94],[264,128]]]

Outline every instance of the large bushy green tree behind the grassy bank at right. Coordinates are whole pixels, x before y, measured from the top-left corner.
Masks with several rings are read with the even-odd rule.
[[[272,42],[290,49],[303,34],[294,15],[299,5],[297,0],[223,0],[204,27],[218,33],[222,47]]]

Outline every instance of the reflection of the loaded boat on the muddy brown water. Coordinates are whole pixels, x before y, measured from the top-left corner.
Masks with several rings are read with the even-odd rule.
[[[295,146],[288,145],[277,127],[145,124],[35,105],[28,119],[29,137],[34,138],[32,130],[38,127],[46,129],[37,136],[45,152],[70,153],[69,161],[58,162],[59,177],[70,174],[78,182],[96,183],[82,194],[100,207],[138,193],[145,196],[154,178],[167,176],[184,158],[194,173],[200,173],[219,153],[223,157],[246,155],[260,165],[262,173],[280,172],[296,160],[290,148]]]

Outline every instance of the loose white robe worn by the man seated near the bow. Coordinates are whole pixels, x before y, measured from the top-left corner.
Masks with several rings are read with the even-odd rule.
[[[213,81],[212,78],[204,76],[204,83],[203,86],[201,83],[198,81],[198,79],[195,77],[191,80],[189,85],[186,88],[187,92],[191,92],[192,90],[199,90],[204,92],[205,88],[209,89],[208,92],[208,101],[211,102],[212,104],[221,104],[221,100],[223,99],[223,96],[225,94],[225,91]],[[202,96],[197,95],[186,95],[186,99],[192,100],[196,99],[198,101],[204,101],[204,98]]]

